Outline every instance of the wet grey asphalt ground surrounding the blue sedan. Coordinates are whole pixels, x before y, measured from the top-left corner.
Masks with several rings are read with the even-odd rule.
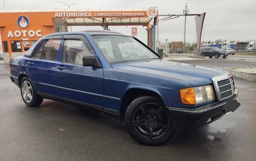
[[[230,59],[188,62],[256,66]],[[164,145],[144,146],[122,122],[98,111],[52,100],[26,107],[9,70],[0,65],[0,160],[256,160],[256,81],[235,78],[241,103],[235,112]]]

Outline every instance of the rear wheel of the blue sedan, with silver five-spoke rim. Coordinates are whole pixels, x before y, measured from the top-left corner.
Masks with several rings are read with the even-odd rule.
[[[20,93],[24,103],[29,107],[38,107],[43,102],[43,98],[36,93],[33,81],[29,77],[23,77],[21,80]]]

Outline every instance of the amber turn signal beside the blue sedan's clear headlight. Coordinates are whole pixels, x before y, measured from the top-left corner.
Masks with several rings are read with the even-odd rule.
[[[180,89],[181,103],[188,105],[195,105],[195,91],[194,88]]]

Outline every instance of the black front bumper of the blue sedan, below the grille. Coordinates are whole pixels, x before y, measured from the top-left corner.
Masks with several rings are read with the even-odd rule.
[[[235,89],[231,98],[196,109],[167,107],[172,117],[173,127],[177,132],[183,132],[216,121],[224,114],[234,112],[240,106],[236,100],[237,96],[238,90]]]

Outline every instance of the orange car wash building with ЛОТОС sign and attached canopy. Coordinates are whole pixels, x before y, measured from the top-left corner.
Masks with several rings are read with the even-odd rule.
[[[148,46],[154,49],[157,12],[147,10],[0,10],[0,42],[4,63],[23,55],[43,35],[66,32],[68,26],[146,26]],[[154,13],[153,13],[154,12]],[[149,15],[149,16],[148,16]],[[152,17],[153,15],[153,17]],[[154,29],[156,30],[156,29]]]

